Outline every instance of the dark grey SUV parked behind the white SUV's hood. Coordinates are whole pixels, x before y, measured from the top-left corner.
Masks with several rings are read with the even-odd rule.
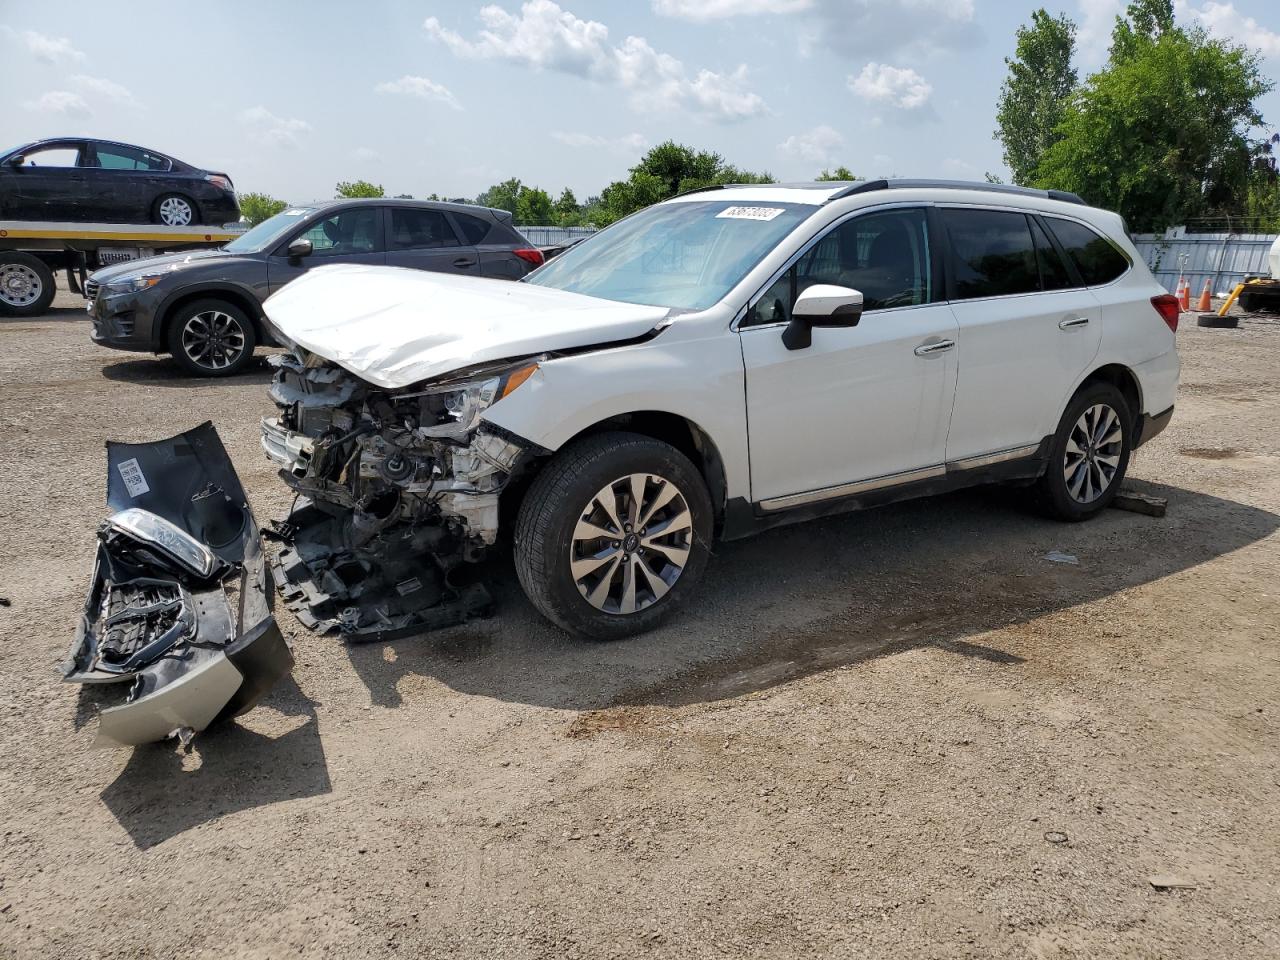
[[[84,296],[95,343],[170,353],[197,376],[241,370],[270,338],[262,301],[323,264],[518,280],[543,262],[511,214],[468,204],[332,200],[289,207],[225,247],[99,270]]]

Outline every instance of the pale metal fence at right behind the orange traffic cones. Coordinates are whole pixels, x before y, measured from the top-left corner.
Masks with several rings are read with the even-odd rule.
[[[1225,297],[1245,276],[1267,276],[1267,253],[1275,237],[1262,233],[1188,233],[1162,236],[1139,233],[1134,246],[1156,279],[1172,292],[1185,276],[1194,297],[1210,280],[1210,289]]]

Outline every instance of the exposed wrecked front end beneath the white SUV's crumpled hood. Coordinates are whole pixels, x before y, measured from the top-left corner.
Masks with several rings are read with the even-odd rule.
[[[488,616],[466,564],[497,541],[499,495],[538,448],[480,415],[538,364],[389,390],[301,348],[270,362],[262,449],[297,493],[273,564],[289,609],[357,643]]]

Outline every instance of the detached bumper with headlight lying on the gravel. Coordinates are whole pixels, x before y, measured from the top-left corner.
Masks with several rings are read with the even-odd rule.
[[[257,524],[212,424],[108,444],[108,506],[76,640],[77,684],[119,684],[97,745],[183,741],[252,708],[293,667]]]

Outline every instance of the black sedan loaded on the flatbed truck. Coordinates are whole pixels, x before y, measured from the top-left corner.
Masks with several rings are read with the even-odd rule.
[[[230,177],[154,150],[64,137],[0,156],[0,220],[186,227],[238,219]]]

